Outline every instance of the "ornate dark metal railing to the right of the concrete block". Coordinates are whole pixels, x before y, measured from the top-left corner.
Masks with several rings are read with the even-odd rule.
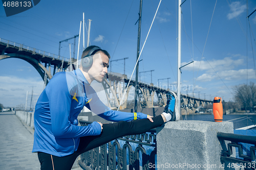
[[[255,151],[256,151],[256,136],[238,135],[232,133],[217,133],[217,137],[220,141],[228,140],[231,143],[226,145],[222,144],[221,162],[225,163],[225,167],[229,168],[244,168],[244,169],[256,169]],[[221,142],[222,143],[222,142]],[[250,147],[250,153],[244,154],[241,143],[252,144]],[[254,146],[253,146],[254,145]],[[239,157],[230,157],[233,154],[232,147],[238,149]]]

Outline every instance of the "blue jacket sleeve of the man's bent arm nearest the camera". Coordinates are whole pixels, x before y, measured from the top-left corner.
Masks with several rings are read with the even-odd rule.
[[[101,126],[97,122],[86,127],[71,124],[69,118],[72,95],[68,90],[65,74],[55,75],[49,82],[46,93],[49,99],[52,133],[56,138],[82,137],[101,133]]]

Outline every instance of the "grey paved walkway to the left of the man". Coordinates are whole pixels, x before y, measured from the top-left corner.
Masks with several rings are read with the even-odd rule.
[[[32,153],[33,131],[28,130],[12,112],[0,112],[0,169],[40,169]]]

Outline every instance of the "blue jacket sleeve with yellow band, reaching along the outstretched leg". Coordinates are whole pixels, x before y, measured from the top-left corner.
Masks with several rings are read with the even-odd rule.
[[[93,89],[91,89],[93,90]],[[93,90],[94,91],[94,90]],[[112,121],[112,122],[119,122],[121,120],[124,121],[131,121],[136,119],[143,119],[147,118],[146,114],[143,113],[130,113],[130,112],[121,112],[121,111],[115,111],[111,110],[109,107],[105,106],[101,100],[99,99],[97,93],[91,92],[91,95],[89,98],[91,98],[91,102],[89,103],[90,107],[88,107],[92,112],[99,115],[100,117]]]

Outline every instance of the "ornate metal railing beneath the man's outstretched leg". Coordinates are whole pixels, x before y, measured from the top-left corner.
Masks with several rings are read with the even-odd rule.
[[[87,126],[92,122],[79,120],[79,123],[81,126]],[[135,148],[134,143],[137,145],[133,151],[133,148]],[[150,154],[147,154],[145,147],[154,147],[154,149]],[[83,153],[78,163],[82,169],[87,170],[140,169],[140,165],[142,169],[150,169],[148,167],[149,163],[156,164],[156,149],[156,130],[152,129],[140,135],[129,135],[115,139],[114,142],[103,144],[98,148]],[[139,158],[140,153],[142,162],[140,162]]]

